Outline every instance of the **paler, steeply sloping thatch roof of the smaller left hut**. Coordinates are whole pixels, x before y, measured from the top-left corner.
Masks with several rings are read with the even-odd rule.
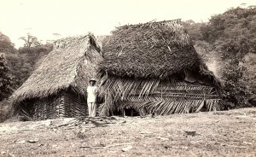
[[[15,91],[14,102],[49,96],[69,87],[84,94],[88,80],[96,76],[97,63],[102,59],[99,51],[96,38],[90,34],[55,41],[55,48]]]

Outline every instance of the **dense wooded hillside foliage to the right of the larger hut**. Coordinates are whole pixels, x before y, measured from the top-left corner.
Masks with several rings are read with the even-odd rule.
[[[208,23],[184,23],[202,58],[209,64],[217,62],[213,71],[223,83],[226,108],[250,106],[247,102],[256,93],[252,88],[256,61],[248,63],[245,58],[256,55],[256,8],[229,9]]]

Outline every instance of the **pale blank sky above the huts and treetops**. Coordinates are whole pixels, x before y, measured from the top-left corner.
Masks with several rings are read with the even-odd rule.
[[[109,34],[115,26],[151,20],[207,21],[241,3],[256,0],[1,0],[0,32],[16,47],[27,32],[38,39],[53,39],[93,32]]]

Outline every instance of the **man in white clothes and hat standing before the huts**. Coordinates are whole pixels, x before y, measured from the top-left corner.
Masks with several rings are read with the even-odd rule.
[[[89,117],[96,116],[97,87],[95,84],[96,84],[96,79],[91,78],[89,80],[89,85],[87,87],[87,105],[88,105]]]

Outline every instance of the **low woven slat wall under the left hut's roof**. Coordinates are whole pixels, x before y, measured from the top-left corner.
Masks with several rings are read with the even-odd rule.
[[[48,96],[32,102],[26,102],[26,106],[32,106],[30,111],[22,109],[22,115],[26,119],[43,120],[64,117],[79,117],[88,115],[86,99],[71,91],[61,91],[55,96]]]

